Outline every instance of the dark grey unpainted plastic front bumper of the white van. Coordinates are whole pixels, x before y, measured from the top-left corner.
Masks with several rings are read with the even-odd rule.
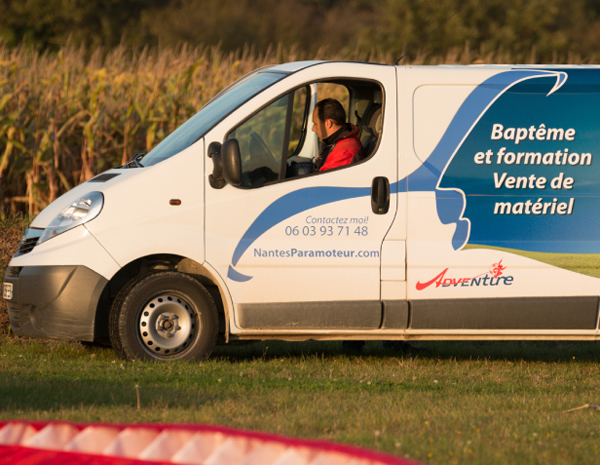
[[[4,282],[12,283],[6,300],[13,332],[18,336],[94,340],[96,309],[108,281],[85,266],[9,266]]]

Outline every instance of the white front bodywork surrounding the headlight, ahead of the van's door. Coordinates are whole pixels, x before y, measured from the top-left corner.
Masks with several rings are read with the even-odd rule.
[[[14,258],[10,265],[86,265],[110,279],[128,263],[154,254],[203,263],[203,173],[203,139],[159,165],[109,170],[104,174],[117,176],[106,182],[92,179],[80,184],[48,206],[31,227],[44,228],[64,208],[93,191],[104,196],[100,215],[36,246],[32,253]],[[170,205],[172,199],[180,200],[181,205]],[[89,245],[90,233],[96,246]],[[96,251],[98,244],[104,251],[102,259]],[[65,247],[68,250],[63,250]],[[100,265],[103,261],[106,263]]]

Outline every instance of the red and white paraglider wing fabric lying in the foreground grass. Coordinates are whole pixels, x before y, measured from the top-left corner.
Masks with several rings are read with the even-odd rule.
[[[191,425],[0,423],[0,463],[12,465],[409,465],[323,441]]]

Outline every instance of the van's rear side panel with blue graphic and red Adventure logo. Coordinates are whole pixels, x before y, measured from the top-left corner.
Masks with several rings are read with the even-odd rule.
[[[600,68],[406,72],[408,332],[594,331]]]

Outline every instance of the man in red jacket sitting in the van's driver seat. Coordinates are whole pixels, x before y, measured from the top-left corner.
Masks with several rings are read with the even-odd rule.
[[[317,103],[312,130],[322,142],[321,152],[315,160],[318,171],[349,165],[362,149],[357,137],[358,128],[346,123],[344,107],[335,99],[327,98]]]

